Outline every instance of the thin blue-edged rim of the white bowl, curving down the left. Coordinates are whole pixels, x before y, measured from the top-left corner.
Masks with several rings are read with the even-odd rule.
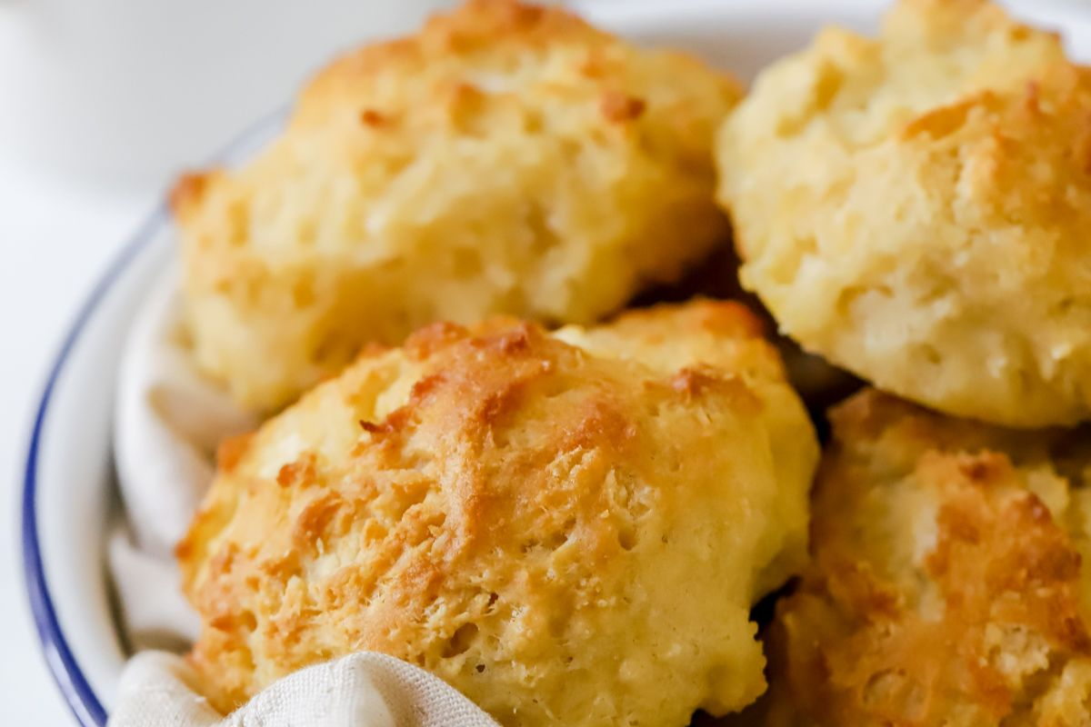
[[[286,109],[278,109],[263,117],[249,126],[235,140],[214,155],[213,163],[233,165],[255,150],[286,118]],[[80,340],[88,320],[97,311],[110,287],[129,267],[129,265],[155,239],[156,232],[168,223],[169,214],[165,204],[160,203],[143,225],[137,229],[130,242],[115,256],[101,275],[91,293],[84,300],[74,323],[64,336],[60,352],[53,361],[46,379],[45,389],[38,401],[34,416],[34,427],[31,431],[31,443],[27,447],[26,467],[23,472],[23,505],[22,505],[22,543],[23,543],[23,575],[26,579],[26,591],[31,602],[31,611],[41,641],[41,651],[46,664],[52,673],[53,681],[60,688],[69,708],[81,727],[104,727],[107,720],[106,707],[95,693],[89,680],[80,667],[72,652],[49,592],[45,567],[41,558],[41,543],[38,536],[37,521],[37,483],[38,456],[41,449],[43,428],[49,414],[57,381],[64,371],[72,349]]]

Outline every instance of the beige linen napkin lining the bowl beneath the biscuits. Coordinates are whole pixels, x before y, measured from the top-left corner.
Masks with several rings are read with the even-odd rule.
[[[442,680],[370,652],[290,675],[227,717],[192,689],[189,666],[170,653],[197,627],[172,550],[215,472],[217,443],[257,419],[194,368],[177,291],[175,270],[156,282],[119,372],[115,457],[125,518],[108,555],[121,626],[139,653],[110,727],[496,727]],[[149,649],[169,651],[141,651]]]

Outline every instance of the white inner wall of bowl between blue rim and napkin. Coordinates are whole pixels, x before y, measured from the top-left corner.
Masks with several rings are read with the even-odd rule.
[[[112,509],[113,378],[145,281],[166,259],[142,254],[116,278],[61,369],[39,439],[37,522],[46,585],[64,639],[88,683],[109,701],[124,662],[104,561]]]

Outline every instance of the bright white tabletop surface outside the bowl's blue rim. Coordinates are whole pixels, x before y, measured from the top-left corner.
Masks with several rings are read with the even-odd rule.
[[[397,5],[398,12],[407,12],[406,2]],[[0,1],[0,41],[10,39],[2,34],[2,13],[15,4],[20,3]],[[393,25],[409,22],[386,20]],[[9,71],[10,58],[2,51],[13,47],[0,43],[0,61],[8,61]],[[280,48],[250,50],[283,54]],[[320,57],[327,51],[307,52]],[[301,61],[296,63],[292,68],[300,68]],[[239,101],[219,122],[204,124],[202,133],[215,141],[191,140],[193,148],[211,153],[240,130],[239,119],[255,119],[276,106],[300,75],[288,72],[289,66],[281,68],[277,83],[269,84],[264,96]],[[0,73],[0,114],[17,113],[17,89],[3,84],[10,77]],[[70,131],[80,133],[79,125]],[[156,204],[172,162],[164,161],[158,177],[121,191],[86,175],[65,177],[29,165],[25,161],[34,156],[27,154],[29,141],[13,134],[0,133],[0,725],[63,726],[73,720],[41,658],[22,578],[19,505],[32,408],[79,305]]]

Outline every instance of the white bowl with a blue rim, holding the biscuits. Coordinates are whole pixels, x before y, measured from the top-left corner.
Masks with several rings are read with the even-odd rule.
[[[690,49],[750,77],[836,22],[874,27],[880,0],[612,0],[586,2],[592,21],[640,43]],[[1062,28],[1070,50],[1091,56],[1091,15],[1051,0],[1011,3]],[[257,124],[217,161],[252,155],[281,114]],[[76,719],[104,725],[125,647],[105,567],[107,526],[117,516],[111,462],[113,378],[141,300],[172,254],[169,220],[157,209],[95,288],[61,348],[41,397],[24,475],[23,548],[27,589],[49,667]]]

